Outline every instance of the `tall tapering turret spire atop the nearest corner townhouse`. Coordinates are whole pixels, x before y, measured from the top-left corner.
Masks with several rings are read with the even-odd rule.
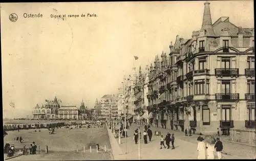
[[[216,36],[214,33],[214,29],[212,29],[211,15],[210,15],[210,3],[208,1],[206,1],[204,3],[204,15],[203,15],[202,30],[206,30],[207,36]]]

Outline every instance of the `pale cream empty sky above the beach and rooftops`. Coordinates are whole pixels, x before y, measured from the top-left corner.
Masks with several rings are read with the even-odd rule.
[[[228,16],[253,28],[253,1],[209,2],[212,23]],[[83,99],[93,107],[96,98],[118,92],[134,56],[136,69],[145,70],[156,55],[169,54],[177,35],[191,38],[201,29],[203,10],[204,1],[1,4],[3,117],[31,115],[37,103],[55,96],[63,105],[79,107]],[[11,13],[17,21],[9,20]]]

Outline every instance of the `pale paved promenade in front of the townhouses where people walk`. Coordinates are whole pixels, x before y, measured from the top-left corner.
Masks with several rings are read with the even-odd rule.
[[[117,127],[118,128],[118,125]],[[112,150],[114,159],[124,160],[124,159],[137,159],[138,157],[138,144],[133,141],[133,133],[135,124],[132,124],[130,129],[127,130],[127,150],[125,154],[125,137],[121,138],[121,144],[118,144],[118,139],[114,138],[113,133],[109,130]],[[144,127],[141,127],[144,129]],[[198,135],[185,136],[184,132],[152,127],[153,137],[152,141],[148,144],[144,144],[143,139],[140,140],[140,153],[142,159],[197,159],[197,137]],[[142,131],[142,130],[141,130]],[[155,136],[155,131],[160,131],[165,137],[166,133],[175,134],[175,149],[160,149],[160,136]],[[222,140],[222,139],[221,139]],[[227,153],[222,154],[223,159],[251,159],[255,158],[255,148],[239,145],[234,143],[223,142],[224,151]],[[217,158],[217,154],[215,154]]]

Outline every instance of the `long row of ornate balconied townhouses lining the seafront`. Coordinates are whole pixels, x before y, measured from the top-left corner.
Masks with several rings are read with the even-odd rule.
[[[147,109],[153,126],[194,133],[255,128],[254,29],[229,17],[212,24],[209,5],[201,30],[188,39],[177,35],[169,54],[157,55],[143,73],[140,67],[138,76],[133,68],[118,94],[120,111]]]

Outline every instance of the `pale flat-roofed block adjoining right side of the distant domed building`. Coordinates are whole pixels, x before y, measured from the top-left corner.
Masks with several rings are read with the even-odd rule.
[[[61,106],[58,110],[59,119],[78,120],[78,108],[76,106]]]

